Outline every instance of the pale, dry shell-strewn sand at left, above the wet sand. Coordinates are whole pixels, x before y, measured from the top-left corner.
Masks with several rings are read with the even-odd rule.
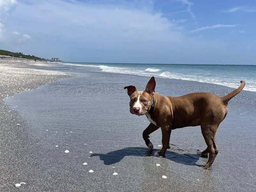
[[[72,76],[70,73],[31,69],[32,67],[51,68],[53,66],[55,65],[47,62],[35,62],[7,56],[0,59],[0,99]]]

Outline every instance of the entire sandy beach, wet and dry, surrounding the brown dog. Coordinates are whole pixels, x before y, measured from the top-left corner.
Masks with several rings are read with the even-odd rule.
[[[220,152],[203,170],[207,159],[196,155],[205,148],[200,127],[174,130],[171,143],[180,149],[172,146],[164,158],[152,156],[161,149],[160,130],[150,135],[153,151],[145,146],[148,120],[130,114],[123,87],[143,90],[148,77],[49,66],[0,60],[0,191],[255,191],[256,92],[242,91],[228,103],[216,135]],[[65,78],[67,72],[79,75]],[[156,82],[157,92],[172,96],[233,90]],[[20,182],[26,184],[15,188]]]

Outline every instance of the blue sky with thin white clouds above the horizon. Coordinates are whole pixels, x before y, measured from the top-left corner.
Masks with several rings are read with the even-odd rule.
[[[0,0],[0,49],[77,62],[256,64],[255,0]]]

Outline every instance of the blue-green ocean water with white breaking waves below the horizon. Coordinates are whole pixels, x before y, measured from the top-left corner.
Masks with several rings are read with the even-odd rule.
[[[99,68],[103,72],[155,76],[212,83],[237,88],[244,80],[244,90],[256,92],[255,65],[184,65],[184,64],[116,64],[58,62],[85,68]]]

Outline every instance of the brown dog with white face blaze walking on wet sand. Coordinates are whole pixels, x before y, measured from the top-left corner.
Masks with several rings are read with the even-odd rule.
[[[173,129],[201,126],[207,148],[197,154],[208,156],[204,169],[209,169],[218,154],[215,133],[228,113],[228,101],[235,97],[245,86],[241,85],[228,95],[219,97],[212,93],[189,93],[180,97],[163,96],[155,93],[155,77],[151,77],[144,91],[137,91],[134,85],[124,87],[130,96],[130,112],[135,115],[146,115],[150,124],[143,131],[143,139],[148,148],[152,149],[149,134],[161,127],[163,147],[155,156],[164,156],[170,148],[170,136]]]

